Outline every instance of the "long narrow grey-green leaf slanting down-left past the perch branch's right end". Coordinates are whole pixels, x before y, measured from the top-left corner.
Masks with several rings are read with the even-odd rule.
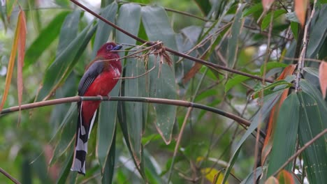
[[[256,130],[259,123],[263,121],[269,114],[270,110],[273,108],[275,103],[279,100],[280,95],[282,95],[282,91],[277,91],[275,93],[266,95],[263,98],[263,106],[261,107],[261,111],[259,111],[258,114],[256,114],[251,122],[251,125],[249,125],[249,128],[247,128],[247,131],[242,136],[240,141],[238,141],[238,145],[235,147],[235,151],[229,160],[228,167],[226,168],[224,181],[223,183],[226,183],[229,174],[231,173],[231,169],[233,169],[233,165],[235,164],[235,161],[238,159],[238,153],[240,153],[240,148],[242,147],[245,140],[251,135],[251,133]]]

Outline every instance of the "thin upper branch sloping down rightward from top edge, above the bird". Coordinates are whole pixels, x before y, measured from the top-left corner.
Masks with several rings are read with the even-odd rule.
[[[117,29],[118,31],[121,31],[122,33],[126,34],[127,36],[135,39],[135,40],[138,40],[140,43],[146,43],[148,46],[152,46],[154,45],[155,43],[154,42],[147,42],[146,40],[143,40],[142,38],[138,38],[138,36],[135,36],[133,35],[132,33],[129,33],[128,31],[125,31],[124,29],[122,29],[121,27],[117,26],[116,24],[106,20],[104,17],[102,17],[101,15],[95,13],[94,11],[90,10],[89,8],[87,8],[86,6],[82,5],[81,3],[79,3],[78,1],[75,1],[75,0],[71,0],[73,3],[75,3],[77,6],[80,6],[80,8],[86,10],[88,13],[91,13],[92,15],[94,15],[94,17],[97,17],[99,20],[102,20],[103,22],[106,22],[106,24],[112,26],[113,28]],[[265,81],[265,82],[270,82],[270,83],[273,83],[274,81],[273,80],[270,80],[270,79],[263,79],[262,77],[259,77],[259,76],[256,76],[256,75],[251,75],[247,72],[241,72],[239,70],[234,70],[232,68],[228,68],[228,67],[225,67],[225,66],[219,66],[215,63],[210,63],[208,61],[205,61],[203,59],[198,59],[196,57],[193,57],[193,56],[189,56],[187,54],[182,54],[181,52],[177,52],[175,51],[174,49],[170,49],[169,47],[163,47],[163,49],[166,49],[166,51],[170,52],[171,54],[175,54],[176,56],[181,56],[185,59],[189,59],[191,61],[195,61],[197,63],[201,63],[205,66],[208,66],[209,68],[212,68],[214,70],[217,70],[217,69],[221,69],[221,70],[226,70],[228,72],[233,72],[235,74],[238,74],[238,75],[244,75],[246,77],[250,77],[252,79],[258,79],[258,80],[261,80],[261,81]]]

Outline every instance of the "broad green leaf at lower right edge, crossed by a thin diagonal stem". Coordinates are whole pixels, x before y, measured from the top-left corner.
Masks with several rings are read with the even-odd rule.
[[[303,146],[327,127],[326,118],[321,116],[321,114],[327,114],[327,111],[319,108],[317,100],[312,95],[300,92],[298,98],[300,99],[298,138],[300,146]],[[320,137],[303,152],[307,178],[310,183],[327,181],[326,139],[326,135]]]

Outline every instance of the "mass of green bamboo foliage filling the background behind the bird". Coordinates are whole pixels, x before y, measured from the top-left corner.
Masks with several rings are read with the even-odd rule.
[[[326,60],[327,24],[324,22],[327,22],[327,5],[319,2],[321,6],[317,6],[310,27],[307,57]],[[84,13],[68,0],[19,3],[27,15],[23,104],[43,100],[45,96],[57,99],[76,95],[85,66],[107,40],[139,44]],[[256,23],[263,11],[259,1],[103,0],[82,3],[140,38],[161,40],[163,45],[176,51],[252,75],[276,79],[291,62],[291,59],[283,59],[282,56],[298,57],[294,54],[299,33],[294,31],[298,31],[300,26],[293,20],[287,20],[286,10],[279,10],[282,8],[279,3],[275,3],[274,9],[261,24]],[[19,7],[14,3],[10,13],[2,4],[0,10],[3,15],[0,23],[0,82],[4,84]],[[287,11],[291,12],[291,8]],[[272,15],[273,29],[269,33]],[[270,45],[267,52],[268,38]],[[124,48],[131,50],[122,53],[122,56],[138,49],[128,45]],[[259,139],[259,156],[254,155],[254,130],[261,123],[261,130],[266,129],[266,120],[273,105],[282,89],[289,88],[288,79],[293,81],[294,77],[285,79],[287,84],[284,81],[262,83],[224,70],[196,66],[189,59],[171,54],[171,68],[166,63],[161,66],[154,56],[145,63],[147,58],[143,54],[147,53],[138,54],[139,58],[122,59],[124,77],[141,75],[156,66],[154,70],[140,78],[120,80],[111,95],[187,100],[223,109],[251,121],[252,126],[246,129],[229,118],[203,109],[192,109],[186,116],[187,108],[174,105],[103,102],[97,125],[89,139],[87,175],[82,177],[70,171],[75,103],[38,107],[0,116],[0,167],[22,183],[108,183],[111,180],[113,183],[210,183],[215,180],[217,171],[228,176],[228,183],[253,183],[254,167],[258,167],[258,173],[263,172],[261,180],[265,181],[270,164],[260,162],[262,137]],[[318,63],[311,61],[305,65],[315,68],[311,71],[318,68]],[[14,70],[5,108],[17,105],[16,72]],[[187,77],[189,79],[186,80]],[[300,146],[303,146],[327,128],[324,121],[326,100],[321,98],[319,79],[310,72],[305,72],[303,77],[305,79],[301,80],[300,87],[304,92],[293,93],[291,100],[314,105],[305,107],[294,103],[297,110],[290,112],[293,116],[302,117],[302,120],[295,124],[279,123],[277,130],[283,132],[291,125],[296,125],[299,130],[288,135],[275,132],[278,140],[286,142],[272,144],[288,156],[296,151],[294,139],[298,137]],[[4,85],[0,85],[0,96],[3,88]],[[250,97],[254,92],[261,94],[260,90],[266,90],[265,98]],[[282,109],[289,108],[292,107],[282,106]],[[280,118],[289,116],[286,110],[279,113]],[[110,125],[106,124],[109,122],[108,115]],[[185,118],[187,124],[182,130]],[[310,128],[311,132],[305,131]],[[173,157],[180,133],[180,146]],[[286,143],[291,146],[283,147]],[[326,179],[326,164],[310,167],[327,162],[324,143],[326,136],[314,144],[325,149],[308,148],[301,158],[304,164],[296,164],[294,169],[301,181],[308,179],[311,183],[319,183]],[[269,169],[273,169],[269,170],[269,174],[273,174],[286,160],[276,152],[272,154],[272,159],[278,162],[270,165]],[[315,154],[318,156],[313,157]],[[215,171],[213,176],[211,172],[204,172],[208,168]],[[303,175],[303,168],[308,168],[307,175]],[[0,183],[9,182],[0,174]]]

